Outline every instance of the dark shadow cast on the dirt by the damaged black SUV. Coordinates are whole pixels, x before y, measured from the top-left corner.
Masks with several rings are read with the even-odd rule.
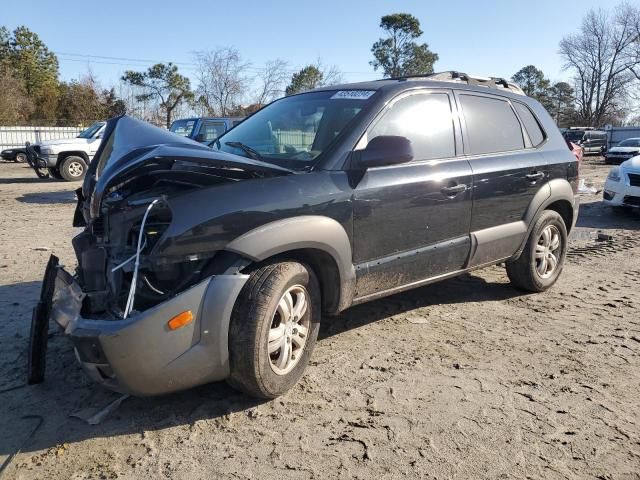
[[[241,394],[224,382],[193,388],[185,392],[154,398],[129,398],[100,425],[91,426],[70,415],[87,407],[104,408],[118,394],[88,380],[76,363],[73,350],[57,327],[50,326],[47,372],[44,383],[25,385],[26,358],[31,307],[38,298],[40,282],[0,286],[0,305],[17,303],[13,309],[0,311],[0,325],[18,318],[15,330],[0,329],[0,417],[1,456],[10,455],[22,445],[23,452],[47,450],[60,444],[73,444],[91,438],[118,437],[158,431],[199,420],[224,425],[233,415],[250,415],[253,407],[265,401]],[[469,301],[502,300],[520,295],[505,283],[491,283],[474,275],[447,280],[409,292],[353,307],[336,317],[326,317],[320,342],[350,329],[377,322],[391,315],[409,312],[428,305]],[[17,361],[16,361],[17,358]],[[9,369],[7,365],[13,362]],[[11,372],[9,375],[8,373]],[[7,387],[15,390],[2,392]],[[34,433],[40,415],[43,423]]]

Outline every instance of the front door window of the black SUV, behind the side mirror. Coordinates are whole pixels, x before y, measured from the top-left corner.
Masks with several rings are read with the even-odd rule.
[[[446,93],[422,93],[401,98],[368,132],[371,139],[397,135],[411,141],[415,160],[456,154],[451,102]]]

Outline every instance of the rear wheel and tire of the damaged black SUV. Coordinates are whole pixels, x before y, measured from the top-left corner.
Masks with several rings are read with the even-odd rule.
[[[553,248],[556,236],[558,245]],[[536,258],[536,253],[542,258]],[[545,210],[536,220],[520,257],[507,262],[507,275],[513,286],[520,290],[544,292],[560,276],[566,256],[567,227],[564,220],[558,212]],[[553,268],[552,262],[555,262]]]

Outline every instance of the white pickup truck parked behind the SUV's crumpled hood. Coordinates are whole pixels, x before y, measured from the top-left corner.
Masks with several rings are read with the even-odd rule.
[[[76,138],[47,140],[32,145],[38,158],[46,164],[49,175],[68,182],[82,180],[89,162],[100,146],[106,122],[96,122]]]

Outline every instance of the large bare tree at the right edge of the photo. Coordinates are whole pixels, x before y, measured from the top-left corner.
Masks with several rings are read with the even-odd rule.
[[[637,62],[629,60],[638,42],[640,9],[619,4],[613,13],[591,10],[580,31],[560,42],[565,68],[574,73],[578,115],[599,126],[620,114],[627,91],[635,80]]]

